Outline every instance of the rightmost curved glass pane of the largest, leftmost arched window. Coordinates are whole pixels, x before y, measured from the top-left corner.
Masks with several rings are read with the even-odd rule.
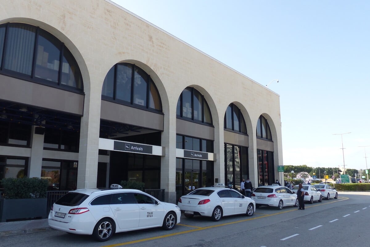
[[[82,89],[82,76],[80,68],[71,52],[64,47],[63,50],[63,64],[62,64],[62,79],[61,84]]]

